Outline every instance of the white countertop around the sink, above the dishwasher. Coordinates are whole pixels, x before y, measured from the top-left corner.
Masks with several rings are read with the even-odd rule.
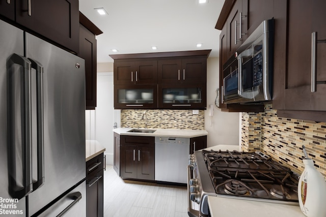
[[[167,136],[167,137],[183,137],[183,138],[192,138],[207,135],[205,130],[179,130],[179,129],[147,129],[147,130],[156,130],[154,133],[132,133],[128,132],[131,129],[135,128],[117,128],[113,129],[113,132],[120,135],[129,135],[129,136]]]

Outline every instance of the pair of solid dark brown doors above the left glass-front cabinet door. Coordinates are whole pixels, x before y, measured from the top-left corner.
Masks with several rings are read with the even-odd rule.
[[[157,83],[157,60],[115,61],[113,71],[117,85]]]

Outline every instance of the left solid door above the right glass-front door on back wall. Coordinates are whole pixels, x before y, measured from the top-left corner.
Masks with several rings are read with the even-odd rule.
[[[181,78],[181,59],[157,61],[158,83],[179,83]]]

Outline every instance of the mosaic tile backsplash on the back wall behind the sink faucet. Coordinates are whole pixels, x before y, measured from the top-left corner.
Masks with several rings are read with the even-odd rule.
[[[123,109],[121,127],[145,128],[145,120],[142,119],[145,111],[148,128],[204,130],[204,110],[199,110],[199,114],[193,114],[193,110]]]

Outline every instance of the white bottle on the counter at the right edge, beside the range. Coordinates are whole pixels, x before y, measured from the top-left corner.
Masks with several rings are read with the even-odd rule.
[[[303,159],[305,170],[298,182],[301,211],[308,217],[326,216],[326,182],[315,169],[312,159]]]

